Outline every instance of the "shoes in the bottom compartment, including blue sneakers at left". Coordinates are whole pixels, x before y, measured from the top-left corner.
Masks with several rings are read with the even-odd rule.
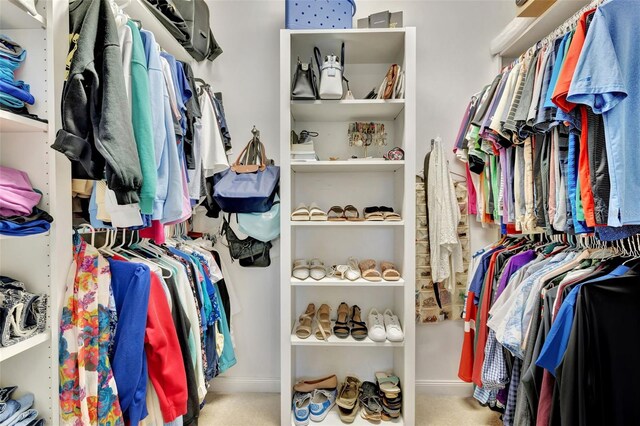
[[[400,379],[389,373],[376,373],[376,381],[361,382],[353,376],[345,377],[338,390],[335,375],[303,380],[293,387],[293,418],[297,426],[321,422],[337,405],[343,423],[353,423],[358,412],[371,422],[400,417],[402,391]]]

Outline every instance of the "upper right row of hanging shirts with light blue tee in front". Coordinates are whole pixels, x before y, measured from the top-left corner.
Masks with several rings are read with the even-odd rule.
[[[609,0],[474,96],[456,140],[469,210],[503,233],[640,232],[640,19]]]

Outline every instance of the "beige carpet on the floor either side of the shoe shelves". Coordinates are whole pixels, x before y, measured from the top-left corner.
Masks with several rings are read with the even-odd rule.
[[[279,426],[280,395],[209,393],[200,426]],[[498,415],[473,398],[418,395],[416,426],[499,426]],[[313,423],[311,423],[313,424]],[[319,423],[320,424],[320,423]],[[384,423],[381,423],[384,426]]]

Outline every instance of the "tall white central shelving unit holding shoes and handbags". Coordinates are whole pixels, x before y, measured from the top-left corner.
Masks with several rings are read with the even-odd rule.
[[[308,58],[313,47],[324,54],[339,52],[345,42],[346,77],[356,98],[378,87],[387,69],[400,64],[406,72],[406,99],[292,101],[290,86],[296,60]],[[291,425],[292,387],[301,378],[337,374],[340,381],[354,374],[375,381],[377,371],[392,371],[403,390],[402,416],[392,424],[415,424],[415,138],[416,138],[416,35],[415,28],[381,30],[282,30],[280,34],[280,139],[281,149],[281,423]],[[349,147],[348,124],[377,121],[385,124],[388,150],[401,146],[406,161],[386,161],[383,150]],[[291,130],[317,131],[315,147],[321,161],[291,162]],[[329,157],[339,157],[329,161]],[[352,204],[360,212],[368,206],[390,206],[403,220],[363,222],[294,222],[289,212],[298,204],[316,202],[331,206]],[[362,213],[361,213],[362,214]],[[318,257],[325,264],[360,260],[394,262],[402,274],[397,282],[369,282],[291,277],[294,259]],[[295,326],[308,303],[332,308],[332,320],[340,302],[357,304],[363,320],[371,308],[391,308],[400,318],[403,342],[356,341],[331,336],[327,342],[315,336],[300,339]],[[337,409],[323,425],[343,424]],[[370,424],[358,417],[356,425]]]

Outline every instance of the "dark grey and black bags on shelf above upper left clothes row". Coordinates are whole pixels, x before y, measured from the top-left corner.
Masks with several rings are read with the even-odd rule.
[[[146,6],[197,61],[213,61],[222,49],[209,27],[204,0],[145,0]]]

